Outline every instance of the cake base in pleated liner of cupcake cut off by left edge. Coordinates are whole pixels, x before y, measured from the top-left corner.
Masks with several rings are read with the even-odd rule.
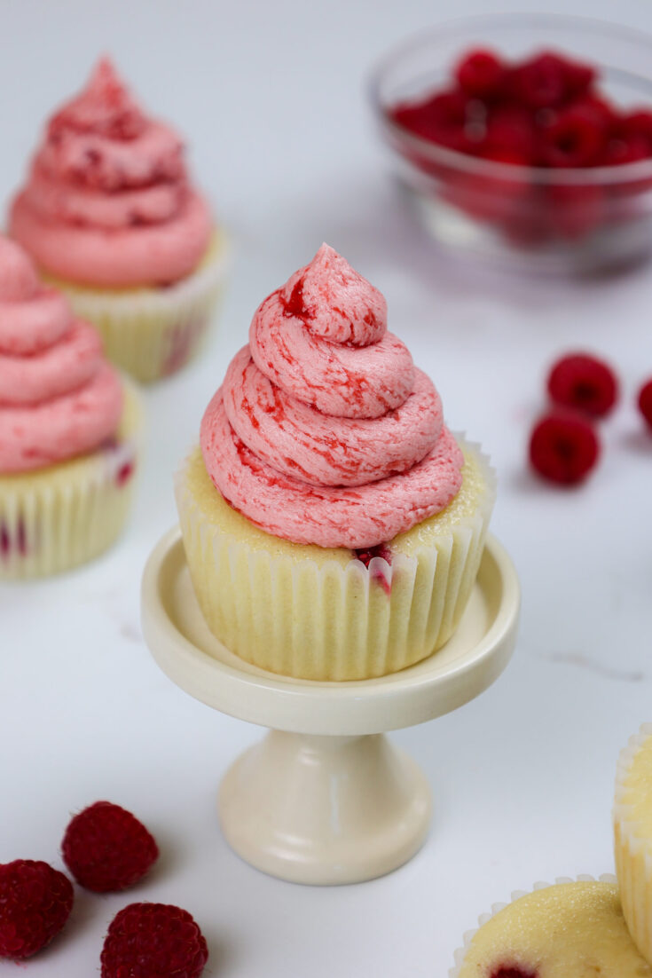
[[[59,465],[0,474],[0,581],[56,574],[109,548],[129,512],[142,426],[127,383],[114,440]]]

